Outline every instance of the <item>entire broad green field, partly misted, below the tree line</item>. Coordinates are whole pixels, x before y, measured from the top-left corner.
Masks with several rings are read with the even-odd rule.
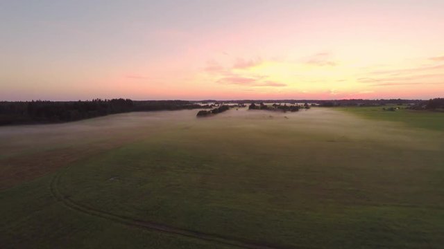
[[[0,248],[442,248],[444,113],[0,127]]]

